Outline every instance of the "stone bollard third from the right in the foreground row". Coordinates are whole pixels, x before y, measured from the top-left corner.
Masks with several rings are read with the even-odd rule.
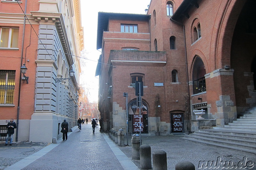
[[[140,169],[152,169],[151,147],[148,144],[140,146]]]

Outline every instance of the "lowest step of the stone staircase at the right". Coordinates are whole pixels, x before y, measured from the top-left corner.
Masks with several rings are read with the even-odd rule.
[[[251,154],[253,156],[255,156],[256,151],[252,151],[251,149],[243,149],[243,148],[237,148],[237,147],[233,147],[233,146],[228,146],[228,145],[223,145],[223,144],[215,144],[212,142],[206,142],[206,141],[199,141],[193,138],[181,138],[184,139],[186,141],[190,141],[190,142],[194,142],[194,143],[200,143],[200,144],[204,144],[204,145],[211,145],[214,146],[216,148],[226,148],[228,150],[233,150],[233,151],[238,151],[238,152],[242,152],[244,154]]]

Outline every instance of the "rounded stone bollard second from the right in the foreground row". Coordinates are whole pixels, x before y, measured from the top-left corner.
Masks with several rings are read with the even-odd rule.
[[[153,170],[167,170],[167,156],[163,150],[158,150],[152,154]]]

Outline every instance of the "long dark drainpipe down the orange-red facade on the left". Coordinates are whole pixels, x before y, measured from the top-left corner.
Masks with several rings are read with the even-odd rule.
[[[18,2],[19,3],[19,2]],[[25,14],[27,13],[27,0],[25,2]],[[24,15],[25,15],[24,14]],[[21,46],[21,59],[20,59],[20,67],[23,63],[23,48],[24,48],[24,36],[25,36],[25,25],[26,25],[26,16],[24,16],[23,21],[23,34],[22,34],[22,46]],[[18,132],[19,132],[19,115],[20,115],[20,85],[21,85],[21,69],[20,69],[20,82],[19,82],[19,94],[18,94],[18,107],[17,107],[17,128],[16,128],[16,142],[18,142]]]

